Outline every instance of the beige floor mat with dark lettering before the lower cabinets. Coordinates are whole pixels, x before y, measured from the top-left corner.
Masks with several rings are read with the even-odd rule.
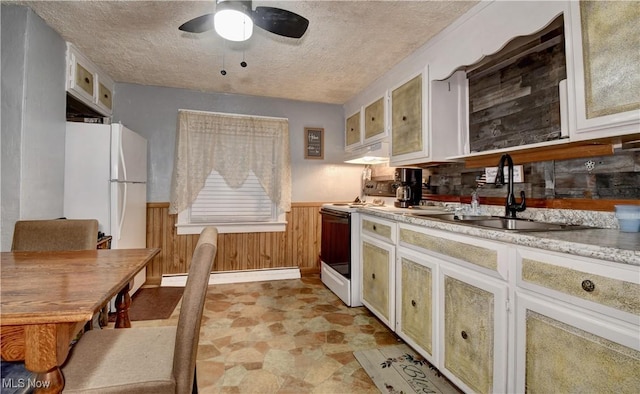
[[[382,393],[462,393],[405,344],[353,355]]]

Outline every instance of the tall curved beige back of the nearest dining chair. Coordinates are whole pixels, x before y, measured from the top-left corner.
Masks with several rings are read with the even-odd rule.
[[[218,230],[205,227],[193,252],[180,305],[173,357],[176,393],[190,393],[193,387],[202,311],[217,250]]]

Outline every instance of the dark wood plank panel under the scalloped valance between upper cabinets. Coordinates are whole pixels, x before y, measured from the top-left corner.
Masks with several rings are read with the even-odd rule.
[[[565,64],[559,27],[467,73],[471,152],[559,139]]]

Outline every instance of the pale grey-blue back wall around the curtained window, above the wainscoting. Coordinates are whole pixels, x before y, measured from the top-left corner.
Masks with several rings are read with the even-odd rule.
[[[149,141],[147,200],[168,202],[178,109],[289,119],[292,201],[350,201],[360,193],[362,166],[343,164],[339,105],[117,83],[113,119]],[[324,128],[324,160],[304,159],[304,128]]]

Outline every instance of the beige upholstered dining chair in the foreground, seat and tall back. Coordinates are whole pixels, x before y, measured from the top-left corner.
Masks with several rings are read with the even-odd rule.
[[[65,393],[197,393],[196,355],[218,231],[198,239],[177,326],[85,333],[62,367]]]

